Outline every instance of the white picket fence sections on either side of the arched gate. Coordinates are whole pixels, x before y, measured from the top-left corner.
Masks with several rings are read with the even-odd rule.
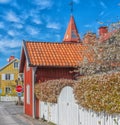
[[[56,125],[61,125],[59,124],[58,111],[59,111],[58,104],[52,104],[47,102],[40,103],[40,118],[45,119],[48,122],[53,122]],[[69,115],[71,115],[71,113]],[[70,116],[68,116],[68,118],[69,117]],[[69,121],[70,120],[72,121],[73,119],[69,119]],[[68,125],[68,124],[63,123],[62,125]],[[72,125],[120,125],[120,115],[116,115],[116,116],[105,115],[104,113],[96,114],[92,111],[87,111],[79,107],[77,124],[72,123]]]

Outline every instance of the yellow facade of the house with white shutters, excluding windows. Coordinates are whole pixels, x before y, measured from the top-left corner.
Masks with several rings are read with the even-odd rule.
[[[19,62],[19,60],[15,60],[14,62]],[[16,85],[18,82],[16,82],[18,80],[18,76],[19,76],[19,69],[18,68],[14,68],[14,62],[12,62],[11,64],[5,66],[1,71],[0,71],[0,88],[2,89],[2,96],[5,95],[11,95],[11,96],[16,96],[17,92],[16,92]],[[2,80],[2,74],[14,74],[14,80]],[[20,81],[18,84],[22,84]],[[10,87],[11,88],[11,92],[9,94],[6,94],[6,87]]]

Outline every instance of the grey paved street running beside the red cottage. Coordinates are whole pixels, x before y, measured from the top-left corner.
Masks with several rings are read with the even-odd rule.
[[[24,115],[23,106],[15,102],[0,102],[0,125],[48,125]]]

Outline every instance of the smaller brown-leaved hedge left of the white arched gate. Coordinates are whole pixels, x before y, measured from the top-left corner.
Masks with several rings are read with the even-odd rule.
[[[65,86],[73,87],[75,83],[76,81],[68,79],[49,80],[43,83],[37,83],[35,85],[35,95],[42,101],[57,103],[62,88]]]

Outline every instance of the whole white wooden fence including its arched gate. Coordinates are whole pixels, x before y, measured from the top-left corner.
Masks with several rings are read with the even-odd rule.
[[[120,114],[96,114],[76,104],[73,99],[73,89],[70,87],[62,90],[57,104],[40,101],[39,113],[40,118],[56,125],[120,125]]]

